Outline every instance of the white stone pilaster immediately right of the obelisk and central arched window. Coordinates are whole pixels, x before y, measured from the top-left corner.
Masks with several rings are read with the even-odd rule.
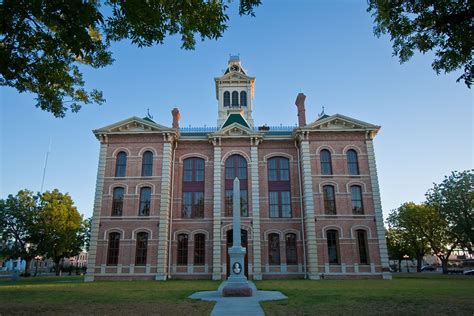
[[[250,177],[252,184],[253,279],[262,279],[262,246],[260,237],[260,186],[258,176],[258,147],[250,147]]]

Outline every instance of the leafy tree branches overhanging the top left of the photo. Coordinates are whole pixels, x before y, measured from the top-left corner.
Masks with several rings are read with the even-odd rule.
[[[227,29],[231,1],[4,0],[0,3],[0,85],[36,95],[36,106],[64,117],[84,104],[102,104],[87,91],[81,65],[113,63],[110,44],[129,39],[139,47],[181,36],[193,49],[196,37],[217,39]],[[260,0],[240,0],[239,14],[254,15]],[[107,13],[104,13],[107,12]]]

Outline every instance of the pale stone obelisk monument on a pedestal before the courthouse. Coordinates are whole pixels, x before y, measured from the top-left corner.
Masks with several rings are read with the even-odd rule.
[[[234,179],[233,194],[233,244],[229,248],[230,276],[222,290],[223,296],[252,296],[252,288],[244,273],[245,253],[240,235],[240,181]]]

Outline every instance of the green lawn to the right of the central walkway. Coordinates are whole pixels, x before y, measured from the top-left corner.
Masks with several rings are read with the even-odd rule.
[[[393,280],[267,280],[289,299],[261,303],[267,315],[473,315],[474,277],[415,274]]]

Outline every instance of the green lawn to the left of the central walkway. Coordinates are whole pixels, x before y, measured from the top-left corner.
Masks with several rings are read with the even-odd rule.
[[[0,315],[209,315],[213,302],[187,298],[216,290],[219,282],[200,280],[82,282],[82,277],[0,281]]]

